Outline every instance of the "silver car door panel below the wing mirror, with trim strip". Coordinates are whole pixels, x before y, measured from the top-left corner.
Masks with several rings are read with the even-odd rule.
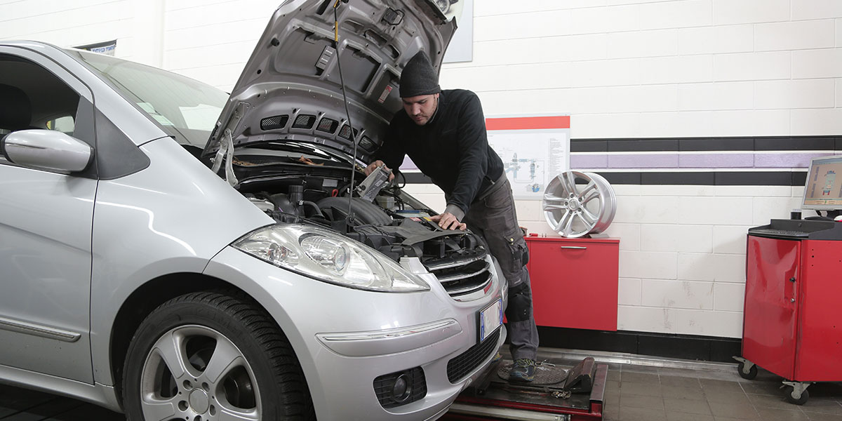
[[[88,338],[97,181],[0,165],[0,364],[93,382]],[[19,323],[81,335],[72,342]]]

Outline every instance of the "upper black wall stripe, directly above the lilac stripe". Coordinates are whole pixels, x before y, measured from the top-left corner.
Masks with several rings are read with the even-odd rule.
[[[570,152],[842,151],[842,136],[571,139]]]

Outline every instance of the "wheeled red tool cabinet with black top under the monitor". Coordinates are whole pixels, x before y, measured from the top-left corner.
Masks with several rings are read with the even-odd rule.
[[[842,381],[840,359],[842,241],[749,231],[740,375],[770,370],[796,386],[787,400],[802,404],[810,383]]]

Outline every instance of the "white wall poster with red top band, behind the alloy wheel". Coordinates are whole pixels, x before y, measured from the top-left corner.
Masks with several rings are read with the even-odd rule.
[[[570,168],[570,116],[520,115],[485,120],[515,199],[541,200],[546,185]]]

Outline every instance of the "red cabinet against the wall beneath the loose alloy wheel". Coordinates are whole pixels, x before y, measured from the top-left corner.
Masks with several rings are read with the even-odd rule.
[[[618,238],[526,237],[538,326],[617,330]]]

